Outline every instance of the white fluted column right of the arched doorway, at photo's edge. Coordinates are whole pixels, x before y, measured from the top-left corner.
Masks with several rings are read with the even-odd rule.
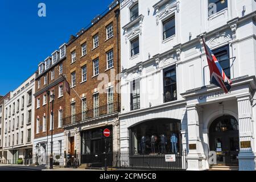
[[[238,105],[238,125],[240,138],[240,152],[238,155],[239,170],[251,171],[255,170],[255,155],[252,150],[254,147],[253,139],[253,121],[252,121],[252,107],[251,97],[241,96],[237,97]]]

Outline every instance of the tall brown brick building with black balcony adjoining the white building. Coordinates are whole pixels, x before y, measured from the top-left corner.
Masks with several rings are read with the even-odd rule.
[[[119,30],[119,3],[114,1],[68,42],[71,94],[65,94],[65,151],[82,164],[104,166],[104,152],[119,150],[120,99],[115,89],[120,72]],[[102,76],[108,77],[104,84]],[[104,129],[110,130],[109,138],[104,137]]]

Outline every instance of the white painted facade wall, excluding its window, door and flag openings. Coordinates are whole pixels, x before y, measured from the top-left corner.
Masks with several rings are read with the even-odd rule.
[[[130,9],[139,14],[130,21]],[[209,127],[214,119],[232,115],[239,124],[240,170],[255,170],[256,2],[228,1],[228,7],[208,16],[208,1],[121,1],[121,150],[129,149],[129,129],[159,118],[179,119],[188,170],[209,169]],[[163,22],[175,17],[175,35],[163,40]],[[210,85],[201,36],[214,50],[228,46],[232,89],[223,94]],[[131,41],[139,38],[139,54],[131,56]],[[176,69],[177,99],[164,102],[163,72]],[[140,109],[131,110],[130,89],[139,79]],[[242,148],[241,142],[250,142]],[[189,146],[196,149],[189,149]]]

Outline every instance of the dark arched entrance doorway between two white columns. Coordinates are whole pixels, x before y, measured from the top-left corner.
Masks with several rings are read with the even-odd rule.
[[[238,121],[231,115],[224,115],[213,121],[209,128],[210,151],[216,151],[217,164],[238,166],[239,131]]]

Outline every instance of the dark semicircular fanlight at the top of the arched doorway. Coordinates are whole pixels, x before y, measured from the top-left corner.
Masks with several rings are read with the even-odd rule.
[[[210,126],[210,132],[226,132],[226,131],[238,131],[237,119],[231,115],[222,116],[215,119]]]

